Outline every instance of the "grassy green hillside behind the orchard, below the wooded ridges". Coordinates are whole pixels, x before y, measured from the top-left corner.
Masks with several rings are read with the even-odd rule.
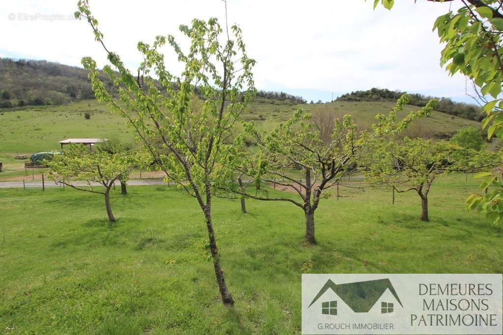
[[[278,100],[251,103],[243,115],[254,120],[260,128],[272,129],[287,120],[297,108],[311,113],[328,111],[336,117],[351,114],[361,129],[374,122],[376,114],[387,113],[393,102],[335,101],[319,104],[292,104]],[[416,106],[407,106],[399,116],[405,116]],[[86,120],[85,113],[91,118]],[[117,137],[133,141],[133,133],[125,127],[125,120],[111,114],[108,108],[95,100],[71,102],[60,106],[28,106],[22,109],[0,111],[0,153],[32,153],[59,149],[58,141],[65,138]],[[479,127],[480,123],[434,111],[418,121],[408,132],[411,136],[446,138],[464,126]]]

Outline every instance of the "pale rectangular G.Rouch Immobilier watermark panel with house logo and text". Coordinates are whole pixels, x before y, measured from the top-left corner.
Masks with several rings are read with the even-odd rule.
[[[303,274],[304,334],[501,334],[501,274]]]

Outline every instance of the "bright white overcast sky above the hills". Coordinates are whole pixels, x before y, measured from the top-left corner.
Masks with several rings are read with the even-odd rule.
[[[397,0],[391,11],[374,11],[370,0],[228,0],[227,17],[241,27],[248,56],[257,61],[258,89],[329,101],[332,94],[379,87],[473,102],[464,76],[441,68],[442,45],[432,32],[451,4]],[[142,60],[138,41],[171,34],[186,46],[180,24],[225,19],[222,0],[90,0],[90,6],[107,47],[131,69]],[[81,66],[91,56],[102,67],[106,54],[75,11],[76,0],[0,2],[0,57]],[[173,51],[162,51],[166,67],[180,71]]]

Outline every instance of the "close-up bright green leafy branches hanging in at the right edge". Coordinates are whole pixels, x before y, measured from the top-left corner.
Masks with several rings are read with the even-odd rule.
[[[476,91],[474,98],[482,104],[487,117],[482,128],[487,129],[487,138],[503,139],[503,14],[499,0],[461,0],[463,6],[457,13],[449,12],[437,18],[433,29],[437,30],[440,42],[445,44],[440,63],[446,65],[451,74],[462,73],[472,80]],[[381,3],[385,8],[393,7],[393,0],[374,0],[374,8]],[[479,92],[480,91],[480,92]],[[487,98],[489,97],[489,98]],[[492,175],[491,185],[501,183],[501,178]],[[484,194],[486,183],[481,183]],[[474,201],[475,199],[475,201]],[[469,209],[486,213],[492,222],[503,221],[503,188],[495,187],[490,196],[467,199]],[[493,219],[497,217],[497,219]]]

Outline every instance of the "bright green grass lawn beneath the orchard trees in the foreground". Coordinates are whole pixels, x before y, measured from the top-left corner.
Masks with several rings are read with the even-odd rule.
[[[355,184],[358,185],[358,184]],[[354,186],[355,186],[354,185]],[[302,244],[290,203],[214,200],[214,225],[236,304],[219,301],[194,198],[175,187],[116,189],[118,221],[101,196],[71,189],[0,189],[0,329],[15,333],[300,333],[300,274],[501,273],[502,231],[464,199],[464,175],[430,193],[341,188],[316,213],[318,244]],[[273,192],[277,192],[272,190]],[[293,194],[292,194],[293,196]]]

